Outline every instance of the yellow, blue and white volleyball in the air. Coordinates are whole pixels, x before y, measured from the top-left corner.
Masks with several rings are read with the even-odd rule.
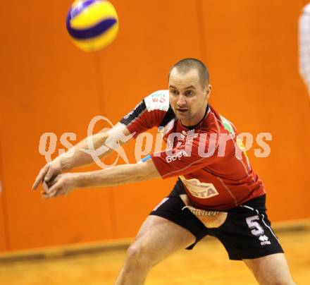
[[[99,51],[118,34],[116,9],[106,0],[77,0],[68,11],[66,28],[77,47]]]

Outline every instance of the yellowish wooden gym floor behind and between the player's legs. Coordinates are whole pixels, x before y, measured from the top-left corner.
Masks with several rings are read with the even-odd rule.
[[[277,231],[294,281],[310,284],[310,230]],[[71,256],[0,262],[0,284],[113,284],[126,250],[99,250]],[[180,250],[151,270],[147,285],[256,284],[243,262],[230,261],[215,238],[205,238],[192,251]]]

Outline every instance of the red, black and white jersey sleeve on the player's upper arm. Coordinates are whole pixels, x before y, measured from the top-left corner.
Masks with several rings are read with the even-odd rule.
[[[140,133],[159,126],[168,109],[168,90],[159,90],[145,97],[135,109],[120,120],[120,123],[123,123],[134,138],[137,138]]]

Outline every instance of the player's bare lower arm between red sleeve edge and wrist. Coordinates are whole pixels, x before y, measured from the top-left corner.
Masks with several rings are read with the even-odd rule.
[[[77,188],[117,186],[159,177],[155,167],[144,167],[142,164],[123,164],[75,175]]]

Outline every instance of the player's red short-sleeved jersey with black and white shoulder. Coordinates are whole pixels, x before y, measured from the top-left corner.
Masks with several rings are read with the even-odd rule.
[[[235,126],[211,106],[197,126],[187,128],[175,117],[168,90],[159,90],[144,98],[120,123],[135,138],[159,128],[168,148],[149,158],[162,178],[180,177],[194,207],[229,210],[265,194]]]

